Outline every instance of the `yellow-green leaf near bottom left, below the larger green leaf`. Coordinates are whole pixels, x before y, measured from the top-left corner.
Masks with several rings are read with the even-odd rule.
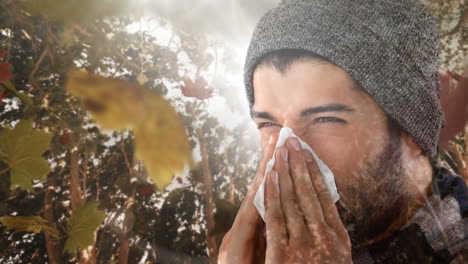
[[[98,210],[98,201],[78,206],[67,220],[68,239],[64,251],[75,254],[78,247],[86,248],[94,244],[94,230],[106,218],[104,211]]]

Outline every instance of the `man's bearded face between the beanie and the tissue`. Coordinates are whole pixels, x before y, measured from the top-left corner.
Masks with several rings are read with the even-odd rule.
[[[405,201],[406,177],[400,135],[389,132],[372,97],[353,88],[346,71],[311,60],[293,63],[285,74],[260,66],[253,86],[262,151],[282,126],[292,128],[333,171],[351,240],[384,231]]]

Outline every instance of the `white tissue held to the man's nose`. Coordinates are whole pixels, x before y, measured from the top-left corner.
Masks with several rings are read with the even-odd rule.
[[[303,149],[307,149],[308,151],[310,151],[312,153],[312,155],[314,156],[315,161],[317,162],[317,166],[318,166],[318,168],[320,170],[320,174],[322,175],[323,181],[325,182],[325,184],[328,187],[328,191],[330,192],[330,195],[332,197],[333,202],[336,203],[340,199],[340,195],[338,194],[338,191],[337,191],[336,185],[335,185],[335,176],[333,176],[333,172],[330,170],[330,168],[328,168],[328,166],[325,165],[325,163],[323,163],[323,161],[321,159],[319,159],[317,154],[315,154],[315,152],[312,150],[312,148],[307,143],[305,143],[302,139],[300,139],[298,136],[296,136],[293,133],[291,128],[283,127],[280,130],[280,134],[279,134],[279,137],[278,137],[278,142],[276,143],[276,147],[275,147],[275,151],[273,153],[273,157],[271,158],[271,160],[268,161],[268,163],[266,165],[265,175],[263,177],[262,183],[260,184],[257,192],[255,193],[254,204],[255,204],[255,207],[257,208],[258,212],[262,216],[263,221],[265,221],[265,200],[264,200],[264,198],[265,198],[266,175],[273,169],[273,166],[275,165],[276,149],[278,149],[278,147],[283,146],[284,143],[286,142],[286,139],[288,139],[289,137],[297,138],[299,140],[299,143],[301,143],[301,147]]]

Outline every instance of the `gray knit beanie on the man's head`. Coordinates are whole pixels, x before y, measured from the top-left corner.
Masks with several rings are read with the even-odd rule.
[[[286,0],[258,22],[244,81],[254,104],[252,74],[262,57],[302,49],[347,71],[433,160],[443,113],[439,39],[419,0]]]

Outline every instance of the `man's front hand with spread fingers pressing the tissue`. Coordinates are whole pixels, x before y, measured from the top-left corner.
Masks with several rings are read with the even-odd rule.
[[[338,210],[312,154],[295,138],[276,151],[265,201],[266,263],[352,263]]]

